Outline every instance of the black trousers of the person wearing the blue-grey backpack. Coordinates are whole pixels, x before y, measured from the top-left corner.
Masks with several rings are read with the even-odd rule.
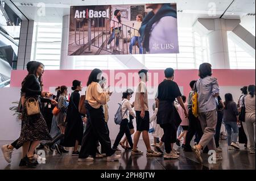
[[[117,138],[115,138],[115,142],[113,145],[113,148],[117,148],[119,142],[121,141],[123,134],[125,134],[127,141],[129,142],[129,145],[131,148],[133,148],[133,140],[131,138],[131,132],[128,126],[128,119],[123,119],[120,124],[119,133],[117,134]]]

